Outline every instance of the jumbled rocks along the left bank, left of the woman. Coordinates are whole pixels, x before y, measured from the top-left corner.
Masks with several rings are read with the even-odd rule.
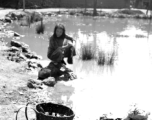
[[[42,56],[39,56],[35,52],[32,52],[27,44],[13,39],[15,37],[21,37],[21,35],[13,31],[9,31],[9,32],[1,31],[0,34],[1,34],[0,41],[2,42],[3,45],[7,46],[3,50],[3,52],[5,53],[4,56],[6,56],[8,60],[14,61],[17,63],[27,61],[29,65],[28,66],[29,69],[42,67],[42,65],[40,65],[40,63],[38,62],[38,60],[42,60]],[[4,38],[6,36],[9,36],[9,37],[12,36],[10,45],[6,45],[8,44],[5,42],[5,38]]]

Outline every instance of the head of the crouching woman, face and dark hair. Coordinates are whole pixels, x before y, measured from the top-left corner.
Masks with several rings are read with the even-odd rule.
[[[55,38],[64,38],[65,37],[65,27],[64,27],[64,25],[57,24],[54,28],[53,36]]]

